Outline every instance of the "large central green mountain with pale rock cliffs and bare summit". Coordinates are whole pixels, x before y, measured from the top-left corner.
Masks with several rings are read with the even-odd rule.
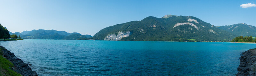
[[[122,41],[199,41],[230,40],[235,36],[216,28],[193,16],[166,15],[162,18],[146,17],[141,21],[132,21],[103,28],[96,33],[95,40]]]

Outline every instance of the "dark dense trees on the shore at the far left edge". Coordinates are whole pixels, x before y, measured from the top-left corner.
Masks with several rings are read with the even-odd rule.
[[[1,39],[7,39],[10,38],[9,31],[0,24],[0,38]]]

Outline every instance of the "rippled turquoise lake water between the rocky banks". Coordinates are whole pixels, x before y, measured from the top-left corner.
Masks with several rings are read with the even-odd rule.
[[[38,76],[235,76],[240,53],[255,43],[0,41]]]

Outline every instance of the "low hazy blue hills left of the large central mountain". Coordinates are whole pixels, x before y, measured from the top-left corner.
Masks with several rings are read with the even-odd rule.
[[[91,35],[81,35],[79,33],[68,33],[65,31],[56,31],[56,30],[31,30],[31,31],[23,31],[19,32],[9,32],[11,35],[16,34],[20,35],[23,39],[67,39],[67,40],[76,40],[78,38],[89,38]],[[79,36],[78,36],[79,35]]]

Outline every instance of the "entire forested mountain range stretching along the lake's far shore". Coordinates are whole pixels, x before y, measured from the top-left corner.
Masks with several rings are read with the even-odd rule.
[[[149,16],[101,29],[93,37],[56,30],[9,32],[23,39],[110,40],[110,41],[230,41],[235,36],[256,37],[256,27],[245,23],[214,26],[194,16]]]

